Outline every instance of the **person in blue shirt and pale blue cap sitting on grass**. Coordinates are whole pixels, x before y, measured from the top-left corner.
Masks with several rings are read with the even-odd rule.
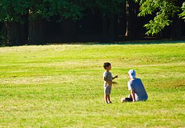
[[[129,70],[128,77],[128,90],[130,94],[126,98],[122,98],[121,102],[135,102],[135,101],[146,101],[148,99],[147,92],[141,79],[136,78],[136,73],[133,69]]]

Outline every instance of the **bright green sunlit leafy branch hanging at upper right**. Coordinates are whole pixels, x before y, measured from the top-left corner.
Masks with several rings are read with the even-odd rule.
[[[163,30],[166,26],[172,23],[172,18],[180,11],[180,7],[176,0],[145,0],[140,2],[139,16],[146,16],[156,13],[153,20],[145,25],[147,28],[146,34],[157,34]],[[182,4],[182,3],[181,3]],[[183,4],[184,5],[184,4]],[[184,9],[184,6],[182,7]],[[183,16],[184,13],[181,14]]]

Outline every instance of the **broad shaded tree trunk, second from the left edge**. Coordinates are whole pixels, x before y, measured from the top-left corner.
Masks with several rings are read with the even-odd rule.
[[[28,44],[44,44],[42,17],[33,17],[32,13],[29,13]]]

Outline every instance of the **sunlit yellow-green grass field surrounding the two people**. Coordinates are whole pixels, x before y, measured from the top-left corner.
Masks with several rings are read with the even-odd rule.
[[[103,63],[119,75],[103,100]],[[121,103],[135,69],[149,99]],[[185,43],[0,48],[0,128],[185,127]]]

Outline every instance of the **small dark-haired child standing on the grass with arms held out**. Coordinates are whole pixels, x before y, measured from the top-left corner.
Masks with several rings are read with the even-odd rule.
[[[105,93],[105,103],[112,103],[110,100],[110,93],[112,88],[112,80],[117,78],[118,75],[112,77],[111,64],[109,62],[104,63],[103,65],[105,72],[103,73],[103,80],[104,80],[104,93]]]

